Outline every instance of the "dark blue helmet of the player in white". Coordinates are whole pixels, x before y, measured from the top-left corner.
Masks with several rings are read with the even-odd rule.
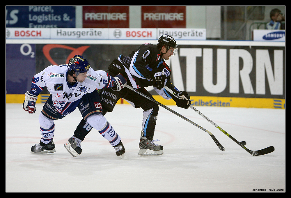
[[[75,55],[69,60],[69,70],[74,70],[75,73],[85,73],[90,69],[90,64],[81,55]]]

